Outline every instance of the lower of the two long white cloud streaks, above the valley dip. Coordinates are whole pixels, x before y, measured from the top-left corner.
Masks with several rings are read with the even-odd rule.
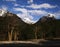
[[[44,10],[27,10],[25,8],[14,8],[14,10],[15,11],[21,11],[21,12],[25,13],[26,15],[28,15],[28,13],[37,14],[37,15],[45,15],[48,13]]]

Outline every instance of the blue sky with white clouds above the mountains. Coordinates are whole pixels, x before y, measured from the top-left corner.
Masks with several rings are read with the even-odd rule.
[[[60,19],[60,0],[0,0],[0,9],[16,14],[27,23],[35,23],[49,13]]]

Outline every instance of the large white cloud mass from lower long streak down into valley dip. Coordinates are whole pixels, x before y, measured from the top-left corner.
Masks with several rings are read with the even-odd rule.
[[[46,15],[47,12],[43,11],[43,10],[27,10],[25,8],[13,8],[15,11],[20,11],[22,13],[18,13],[17,16],[19,16],[20,18],[22,18],[22,20],[26,23],[35,23],[37,22],[34,21],[34,17],[33,15],[38,15],[38,16],[42,16],[42,15]]]

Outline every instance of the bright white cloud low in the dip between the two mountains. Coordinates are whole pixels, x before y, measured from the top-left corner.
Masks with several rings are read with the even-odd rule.
[[[34,24],[36,21],[33,21],[33,17],[30,15],[26,15],[25,13],[23,14],[17,14],[18,17],[20,17],[24,22],[29,23],[29,24]]]

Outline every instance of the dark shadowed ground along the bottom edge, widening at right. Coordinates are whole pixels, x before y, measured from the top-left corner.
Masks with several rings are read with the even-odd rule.
[[[0,47],[60,47],[60,40],[48,40],[40,41],[37,44],[34,43],[1,43]]]

